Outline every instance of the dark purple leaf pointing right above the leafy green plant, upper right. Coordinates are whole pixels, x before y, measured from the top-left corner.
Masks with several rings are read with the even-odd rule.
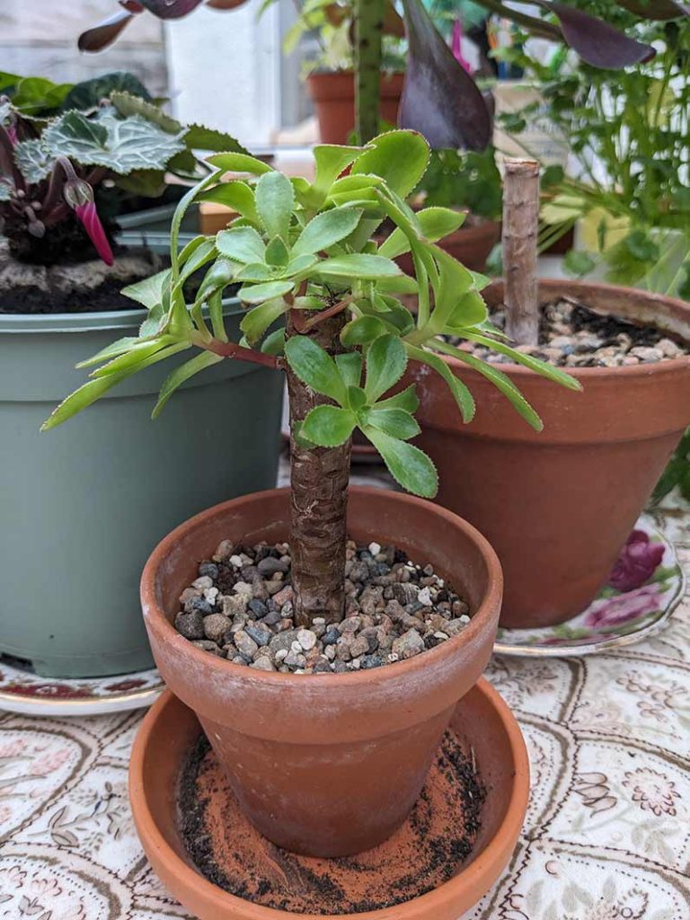
[[[558,16],[563,38],[592,67],[622,70],[634,63],[650,61],[656,54],[651,45],[629,39],[602,19],[572,6],[549,0],[535,0],[535,3]]]

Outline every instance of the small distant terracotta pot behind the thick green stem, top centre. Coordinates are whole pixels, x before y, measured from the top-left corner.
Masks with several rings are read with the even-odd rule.
[[[381,76],[381,118],[397,124],[404,74]],[[322,144],[348,144],[354,128],[354,74],[311,74],[306,79]]]

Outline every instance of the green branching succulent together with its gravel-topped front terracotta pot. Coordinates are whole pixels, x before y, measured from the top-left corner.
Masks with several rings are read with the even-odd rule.
[[[429,158],[419,134],[388,132],[363,147],[317,146],[315,157],[313,183],[291,181],[247,155],[210,157],[218,172],[178,206],[171,269],[157,282],[150,324],[139,339],[116,342],[87,362],[100,365],[92,381],[64,400],[45,427],[70,418],[140,370],[151,355],[172,347],[198,351],[170,374],[155,414],[181,382],[224,358],[285,370],[292,488],[226,502],[167,537],[144,573],[144,618],[161,673],[198,713],[250,820],[278,845],[335,857],[383,841],[419,795],[458,696],[474,684],[488,660],[498,617],[498,572],[481,537],[437,506],[397,493],[354,490],[348,512],[355,428],[378,447],[405,489],[420,496],[434,494],[431,462],[408,443],[418,432],[413,418],[417,398],[409,388],[397,396],[389,391],[412,356],[442,375],[460,410],[471,417],[469,391],[423,348],[439,332],[454,329],[464,335],[484,328],[486,310],[479,293],[481,277],[434,243],[454,230],[458,214],[436,207],[415,213],[404,200]],[[347,167],[348,175],[341,175]],[[225,171],[251,177],[235,180],[244,196],[240,217],[214,238],[178,252],[177,227],[184,210],[200,195],[213,199],[216,190],[224,194],[220,180]],[[377,247],[372,235],[385,217],[397,229]],[[198,296],[187,305],[182,278],[188,260],[201,247],[211,254],[210,268]],[[392,260],[407,249],[414,255],[416,278],[404,275]],[[237,282],[242,284],[238,296],[249,309],[241,323],[244,338],[231,340],[220,304],[226,286]],[[142,287],[150,290],[146,282]],[[419,293],[417,316],[396,296],[412,291]],[[270,332],[276,322],[284,328]],[[557,368],[516,357],[575,386]],[[512,385],[489,365],[477,364],[535,423],[534,413]],[[374,567],[380,566],[381,546],[392,543],[420,563],[431,563],[444,579],[452,579],[444,582],[450,594],[440,595],[452,603],[446,608],[439,602],[436,611],[452,617],[454,591],[459,589],[472,618],[453,626],[445,620],[450,632],[459,629],[454,638],[445,639],[449,633],[441,629],[434,636],[431,627],[441,621],[431,621],[431,589],[441,588],[438,581],[428,582],[429,597],[414,585],[407,589],[410,597],[420,598],[417,604],[431,602],[423,613],[429,622],[417,617],[416,627],[404,613],[397,625],[388,622],[397,607],[388,603],[389,614],[384,614],[383,583],[369,595],[348,590],[346,597],[348,531],[369,547]],[[288,533],[289,569],[284,546]],[[264,543],[259,546],[260,541]],[[240,543],[246,548],[239,548]],[[253,558],[237,555],[249,552]],[[352,547],[350,555],[352,560]],[[204,559],[209,561],[200,569]],[[239,568],[233,569],[235,565]],[[269,575],[269,568],[283,577]],[[286,570],[289,591],[283,590]],[[351,567],[347,570],[350,577],[358,577]],[[377,569],[378,577],[390,570],[389,565]],[[228,575],[230,581],[225,580]],[[367,606],[367,596],[373,602],[369,613],[361,607]],[[369,652],[369,645],[366,650],[362,642],[362,648],[356,645],[367,628],[370,633],[374,628],[378,637],[379,656]],[[331,639],[335,654],[326,652]],[[368,673],[356,673],[362,670]],[[399,706],[382,707],[383,698],[397,700]],[[164,707],[157,707],[149,724],[163,712]],[[147,763],[155,757],[162,768],[161,755],[168,757],[150,746],[142,753]],[[486,746],[481,757],[483,763],[490,760]],[[273,763],[281,769],[272,769]],[[385,765],[394,764],[396,781],[391,785]],[[352,795],[343,794],[346,777]],[[142,799],[132,792],[144,847],[178,897],[204,916],[229,916],[231,909],[239,912],[232,915],[245,915],[236,898],[216,898],[216,914],[208,904],[203,908],[199,876],[180,874],[177,857],[161,856],[155,827],[142,818],[144,802],[137,810],[137,801]],[[505,829],[498,834],[500,856],[492,857],[485,870],[492,877],[512,848],[512,833],[519,825],[514,810],[519,808],[513,806],[510,834]],[[483,875],[482,885],[486,881]],[[444,909],[456,912],[476,900],[480,891],[467,884],[460,876],[450,883],[453,893],[444,895],[451,898]],[[278,903],[270,886],[259,886],[252,897],[259,903]],[[431,909],[433,899],[427,903]],[[225,913],[220,913],[220,904]],[[253,909],[247,906],[247,912]]]

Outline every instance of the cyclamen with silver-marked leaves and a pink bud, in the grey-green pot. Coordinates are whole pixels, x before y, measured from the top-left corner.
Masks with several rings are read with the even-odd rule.
[[[5,83],[7,78],[13,76],[0,75]],[[188,183],[208,172],[193,148],[244,149],[222,132],[185,127],[150,98],[134,95],[132,86],[145,90],[130,75],[105,75],[71,88],[14,79],[15,95],[0,96],[0,229],[16,259],[89,258],[87,241],[75,233],[78,222],[110,265],[109,228],[101,223],[94,195],[98,186],[108,179],[155,196],[165,188],[167,170]],[[31,92],[22,91],[26,84]],[[60,106],[51,110],[56,99]]]

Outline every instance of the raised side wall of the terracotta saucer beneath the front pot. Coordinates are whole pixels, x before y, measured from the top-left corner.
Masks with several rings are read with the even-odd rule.
[[[520,727],[483,678],[455,708],[452,726],[466,749],[474,749],[488,790],[472,852],[453,878],[434,891],[395,907],[356,914],[357,920],[456,920],[489,891],[512,856],[529,797],[529,760]],[[245,901],[213,885],[190,865],[178,830],[178,777],[199,731],[190,708],[167,692],[146,715],[134,742],[132,814],[155,873],[200,920],[320,920],[315,914],[276,911]],[[269,846],[266,854],[269,863]],[[328,914],[328,920],[352,916]]]

